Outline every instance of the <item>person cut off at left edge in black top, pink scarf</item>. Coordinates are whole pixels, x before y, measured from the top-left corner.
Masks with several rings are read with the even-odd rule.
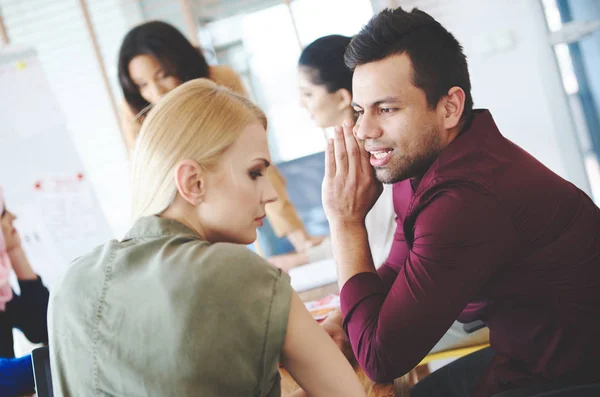
[[[0,187],[0,395],[16,396],[33,392],[31,356],[14,358],[13,329],[19,329],[33,343],[48,343],[46,312],[48,290],[33,271],[21,246]],[[20,295],[10,286],[14,271]]]

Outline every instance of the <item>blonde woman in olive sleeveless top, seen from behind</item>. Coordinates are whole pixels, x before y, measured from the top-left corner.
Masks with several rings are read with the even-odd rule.
[[[365,395],[289,277],[241,245],[276,199],[266,124],[205,79],[150,111],[133,160],[137,222],[51,295],[57,395],[279,396],[280,361],[308,395]]]

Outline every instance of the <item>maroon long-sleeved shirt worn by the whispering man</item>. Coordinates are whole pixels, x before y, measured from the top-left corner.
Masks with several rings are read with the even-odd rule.
[[[418,183],[393,192],[388,260],[341,291],[369,377],[405,374],[454,320],[480,319],[496,358],[472,396],[600,379],[600,209],[585,193],[481,110]]]

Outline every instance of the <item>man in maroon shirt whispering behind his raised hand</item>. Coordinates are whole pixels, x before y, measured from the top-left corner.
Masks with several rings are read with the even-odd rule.
[[[454,320],[483,320],[491,349],[430,375],[415,397],[600,380],[598,207],[472,109],[462,48],[428,14],[383,11],[346,63],[358,119],[327,149],[342,307],[326,329],[343,316],[367,375],[390,381]],[[376,271],[364,218],[380,182],[394,184],[397,230]]]

